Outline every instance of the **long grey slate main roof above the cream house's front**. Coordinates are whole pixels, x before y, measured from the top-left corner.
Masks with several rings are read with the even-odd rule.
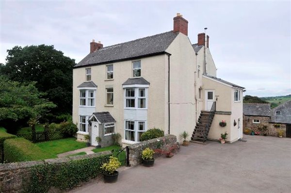
[[[105,64],[165,52],[179,32],[164,32],[130,42],[116,44],[89,53],[74,67]]]

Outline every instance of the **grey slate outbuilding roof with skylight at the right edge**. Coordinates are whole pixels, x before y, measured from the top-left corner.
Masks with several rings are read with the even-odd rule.
[[[291,124],[291,100],[272,109],[272,123],[288,123]],[[281,114],[275,114],[275,111],[280,111]]]

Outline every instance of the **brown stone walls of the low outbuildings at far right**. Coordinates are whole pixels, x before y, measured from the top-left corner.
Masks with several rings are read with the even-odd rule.
[[[284,130],[283,137],[286,137],[286,124],[279,124],[279,128],[275,128],[276,123],[270,123],[270,117],[268,116],[243,116],[243,129],[251,129],[256,131],[256,127],[259,125],[258,123],[253,123],[253,119],[257,119],[260,121],[260,124],[266,124],[268,126],[267,135],[270,136],[278,136],[277,131],[278,129]]]

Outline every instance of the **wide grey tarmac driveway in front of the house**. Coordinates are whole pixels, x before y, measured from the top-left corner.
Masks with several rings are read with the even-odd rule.
[[[244,136],[247,142],[181,146],[154,167],[125,169],[113,184],[93,180],[71,193],[290,193],[291,138]]]

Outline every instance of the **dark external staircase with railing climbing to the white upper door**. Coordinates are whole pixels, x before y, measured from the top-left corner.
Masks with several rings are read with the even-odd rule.
[[[193,142],[202,142],[205,143],[208,137],[208,133],[213,121],[215,113],[215,102],[213,102],[210,111],[201,111],[198,118],[198,123],[196,123],[195,129],[193,131],[191,140]]]

